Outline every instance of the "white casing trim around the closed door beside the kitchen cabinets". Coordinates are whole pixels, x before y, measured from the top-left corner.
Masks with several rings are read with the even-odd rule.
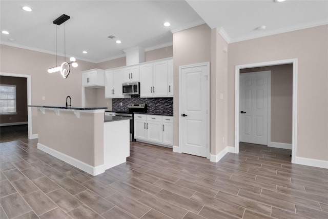
[[[207,131],[206,131],[206,138],[207,138],[207,158],[210,159],[210,155],[211,155],[211,145],[210,145],[210,132],[211,132],[211,129],[210,129],[210,75],[211,75],[211,72],[210,72],[210,62],[205,62],[205,63],[198,63],[198,64],[192,64],[192,65],[183,65],[183,66],[179,66],[179,147],[173,147],[173,151],[174,152],[178,152],[178,153],[182,153],[182,120],[181,120],[181,114],[182,114],[182,111],[181,111],[181,107],[182,107],[182,103],[181,103],[181,96],[182,96],[182,90],[181,90],[181,78],[182,78],[182,69],[183,68],[193,68],[193,67],[200,67],[200,66],[206,66],[207,67],[207,72],[208,72],[208,75],[207,75],[207,95],[206,95],[206,98],[207,98],[207,115],[206,115],[206,118],[207,118]]]

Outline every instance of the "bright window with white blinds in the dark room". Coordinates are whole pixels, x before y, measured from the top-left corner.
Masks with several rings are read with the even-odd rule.
[[[0,114],[16,114],[16,85],[0,85]]]

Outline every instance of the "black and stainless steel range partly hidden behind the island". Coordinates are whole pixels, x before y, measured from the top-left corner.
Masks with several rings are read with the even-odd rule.
[[[131,117],[130,120],[130,142],[135,142],[134,139],[134,121],[133,121],[133,113],[145,113],[147,112],[147,105],[146,104],[129,104],[128,110],[126,111],[114,111],[115,116],[126,116]]]

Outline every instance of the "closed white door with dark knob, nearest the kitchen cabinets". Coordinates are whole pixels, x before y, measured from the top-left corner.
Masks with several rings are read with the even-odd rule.
[[[208,157],[209,63],[179,71],[181,152]]]

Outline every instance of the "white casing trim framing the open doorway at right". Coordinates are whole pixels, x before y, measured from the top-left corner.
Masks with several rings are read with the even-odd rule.
[[[235,66],[235,153],[239,153],[239,71],[243,68],[293,64],[292,163],[297,150],[297,58]]]

